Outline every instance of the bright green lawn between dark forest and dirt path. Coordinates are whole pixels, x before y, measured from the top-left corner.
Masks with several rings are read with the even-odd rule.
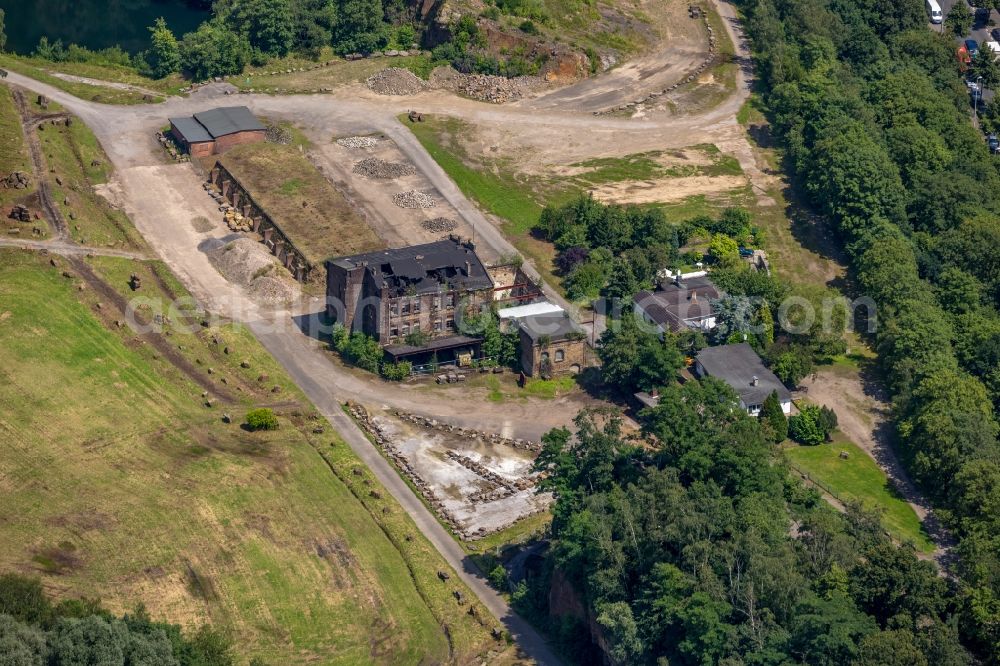
[[[848,457],[841,458],[846,451]],[[840,437],[831,444],[792,446],[785,450],[791,463],[825,486],[842,501],[857,500],[882,512],[882,523],[893,537],[911,541],[918,550],[933,552],[934,543],[924,532],[917,514],[889,486],[878,465],[855,444]]]

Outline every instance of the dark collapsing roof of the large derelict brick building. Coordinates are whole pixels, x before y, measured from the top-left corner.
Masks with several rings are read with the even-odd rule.
[[[474,246],[457,238],[338,257],[327,262],[327,268],[331,266],[343,270],[365,266],[382,289],[396,295],[430,293],[441,286],[464,291],[493,288]]]

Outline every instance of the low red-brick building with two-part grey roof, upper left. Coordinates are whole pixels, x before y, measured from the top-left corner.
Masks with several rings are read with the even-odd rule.
[[[218,155],[263,141],[267,128],[245,106],[224,106],[170,119],[170,133],[191,157]]]

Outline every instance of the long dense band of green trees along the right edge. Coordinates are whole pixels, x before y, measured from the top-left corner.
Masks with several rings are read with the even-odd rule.
[[[743,0],[796,185],[837,229],[898,450],[959,539],[958,628],[1000,660],[1000,176],[918,0]]]

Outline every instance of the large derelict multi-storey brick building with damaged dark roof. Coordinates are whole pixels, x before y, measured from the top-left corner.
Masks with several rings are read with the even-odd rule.
[[[326,270],[328,318],[371,335],[394,360],[478,352],[482,339],[459,328],[465,310],[493,302],[494,284],[471,242],[450,236],[338,257]]]

